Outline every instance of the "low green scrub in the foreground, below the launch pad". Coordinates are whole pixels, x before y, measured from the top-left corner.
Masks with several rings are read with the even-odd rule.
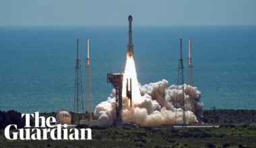
[[[256,147],[255,126],[220,128],[92,128],[91,141],[9,141],[1,147]]]

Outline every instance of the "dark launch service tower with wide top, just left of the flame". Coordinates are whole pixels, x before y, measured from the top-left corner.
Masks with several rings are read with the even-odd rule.
[[[116,118],[115,126],[122,124],[121,110],[123,108],[123,98],[122,98],[122,89],[123,89],[123,73],[108,73],[106,75],[107,83],[112,83],[113,87],[116,90]]]

